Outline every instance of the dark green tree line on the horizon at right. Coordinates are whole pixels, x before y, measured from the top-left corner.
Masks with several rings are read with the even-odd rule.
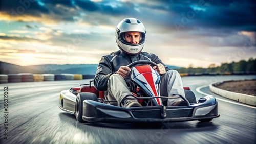
[[[256,58],[249,60],[240,60],[239,62],[221,63],[221,66],[210,64],[208,68],[193,68],[190,64],[188,68],[176,69],[179,73],[255,73]]]

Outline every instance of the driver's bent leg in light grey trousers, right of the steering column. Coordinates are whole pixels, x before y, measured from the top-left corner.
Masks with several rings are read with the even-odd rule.
[[[161,78],[160,95],[173,97],[173,94],[180,94],[185,97],[183,84],[180,74],[176,70],[168,70]],[[182,98],[168,99],[167,105],[171,106],[173,103],[183,100]]]

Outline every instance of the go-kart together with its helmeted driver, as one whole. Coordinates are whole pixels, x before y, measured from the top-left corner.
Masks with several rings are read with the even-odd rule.
[[[176,70],[155,54],[141,52],[145,34],[138,19],[123,19],[116,29],[120,50],[101,58],[89,84],[61,91],[59,108],[85,123],[208,122],[219,117],[216,98],[206,95],[197,102]]]

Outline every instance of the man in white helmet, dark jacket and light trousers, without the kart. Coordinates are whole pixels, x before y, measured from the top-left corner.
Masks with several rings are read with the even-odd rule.
[[[109,101],[117,101],[117,106],[141,107],[132,95],[129,85],[131,68],[127,65],[136,61],[152,61],[157,65],[153,69],[160,74],[159,91],[161,96],[185,97],[180,74],[176,70],[166,67],[163,62],[152,53],[141,52],[144,46],[146,30],[143,23],[136,18],[123,19],[116,28],[116,43],[120,50],[101,58],[94,79],[95,88],[107,91]],[[177,97],[177,96],[176,96]],[[184,98],[162,99],[166,106],[188,105]]]

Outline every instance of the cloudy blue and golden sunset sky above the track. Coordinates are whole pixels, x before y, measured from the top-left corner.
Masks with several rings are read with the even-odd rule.
[[[119,50],[124,18],[146,28],[143,51],[166,65],[208,67],[256,58],[254,1],[1,0],[0,61],[17,65],[98,64]]]

